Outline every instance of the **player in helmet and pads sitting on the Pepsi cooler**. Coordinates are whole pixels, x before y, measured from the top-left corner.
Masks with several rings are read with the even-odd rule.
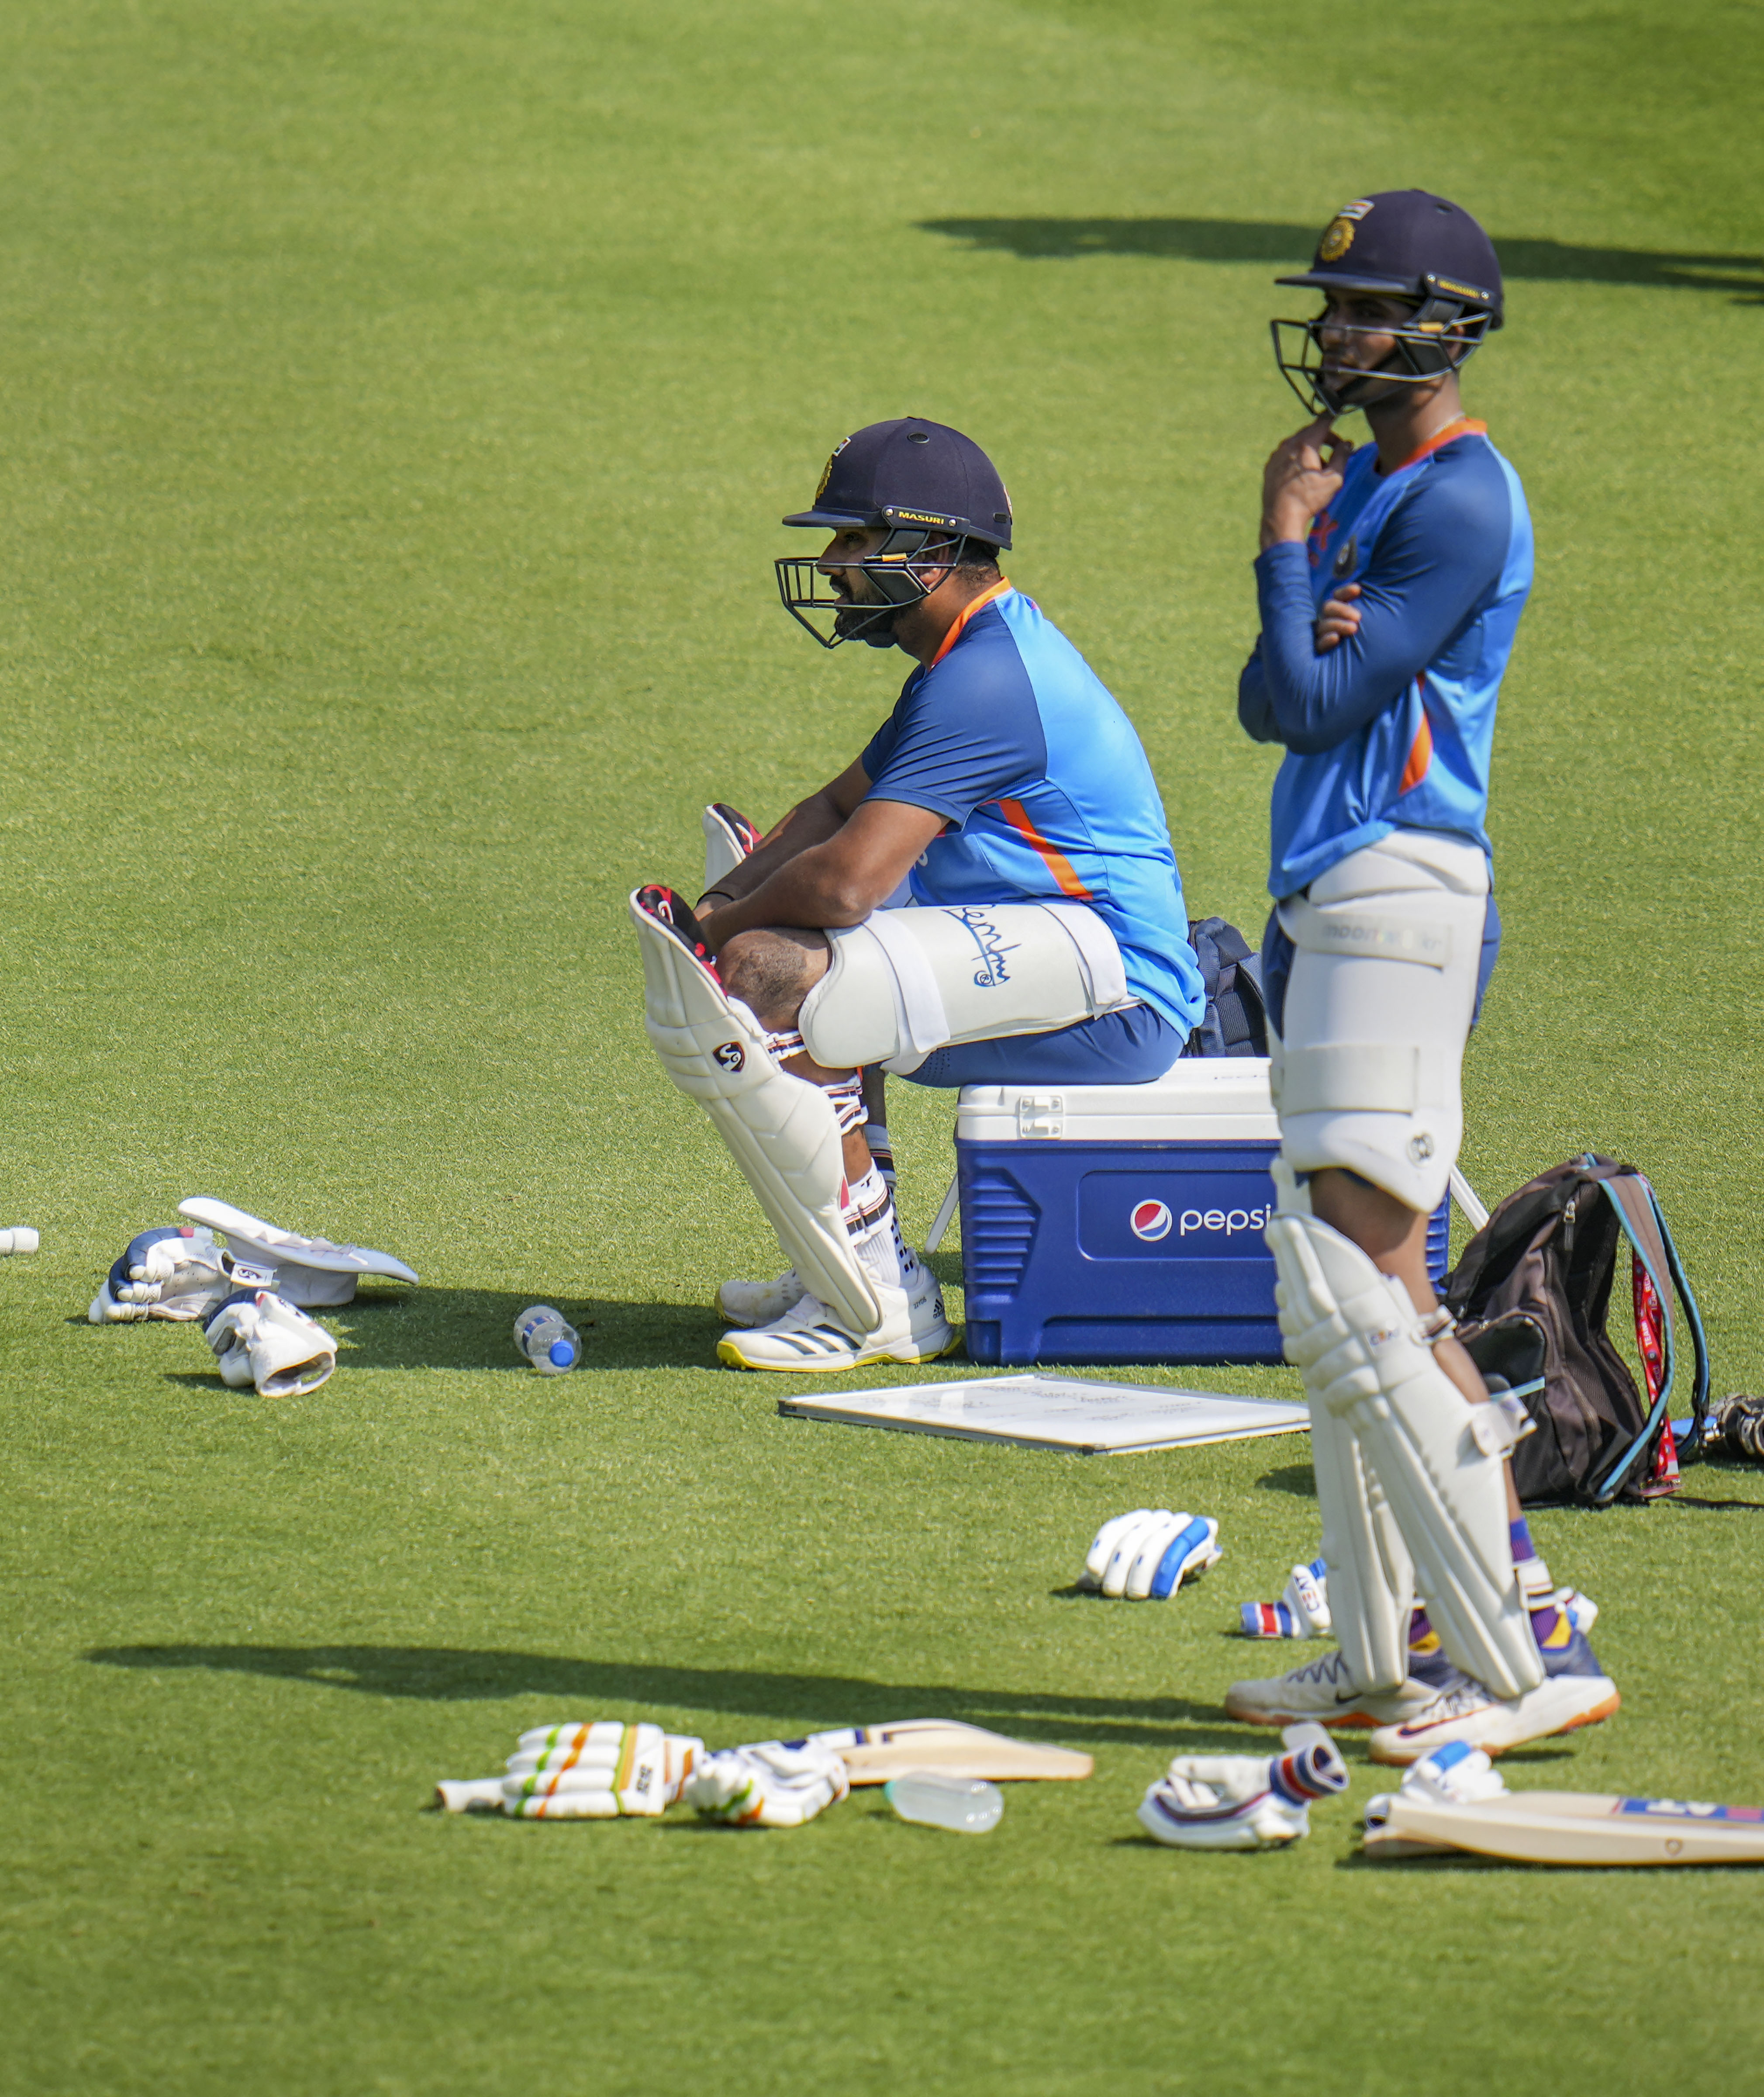
[[[784,522],[833,535],[778,562],[787,610],[824,648],[900,648],[915,669],[854,763],[734,841],[696,912],[642,887],[631,918],[650,1040],[791,1260],[766,1288],[726,1283],[749,1329],[717,1357],[824,1376],[956,1344],[864,1139],[864,1067],[1141,1084],[1206,1000],[1152,765],[998,572],[1011,501],[986,453],[944,424],[870,424]]]

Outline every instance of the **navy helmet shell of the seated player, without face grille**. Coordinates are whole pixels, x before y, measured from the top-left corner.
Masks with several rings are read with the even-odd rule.
[[[961,533],[1011,543],[1011,497],[998,468],[971,436],[944,421],[904,415],[873,421],[833,447],[814,507],[787,524],[843,531],[852,524]]]

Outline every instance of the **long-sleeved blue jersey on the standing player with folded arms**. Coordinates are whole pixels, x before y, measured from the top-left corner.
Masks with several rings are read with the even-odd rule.
[[[1489,849],[1496,698],[1531,589],[1531,514],[1479,421],[1395,472],[1353,453],[1305,545],[1256,560],[1263,631],[1238,719],[1284,742],[1269,893],[1296,895],[1391,830]],[[1317,654],[1324,600],[1359,583],[1359,631]]]

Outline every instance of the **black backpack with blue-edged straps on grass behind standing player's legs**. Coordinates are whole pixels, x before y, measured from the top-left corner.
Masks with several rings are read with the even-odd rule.
[[[1647,1399],[1605,1329],[1623,1239]],[[1588,1151],[1527,1181],[1464,1248],[1445,1306],[1483,1376],[1504,1376],[1537,1422],[1512,1449],[1521,1501],[1609,1508],[1678,1489],[1678,1460],[1701,1451],[1709,1426],[1709,1357],[1678,1248],[1634,1166]],[[1680,1334],[1695,1388],[1676,1445]]]

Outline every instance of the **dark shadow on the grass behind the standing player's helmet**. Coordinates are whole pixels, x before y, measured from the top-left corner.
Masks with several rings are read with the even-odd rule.
[[[1303,268],[1317,245],[1315,226],[1252,218],[923,218],[919,226],[967,241],[971,250],[1003,250],[1036,262],[1101,254]],[[1498,239],[1496,252],[1506,277],[1733,291],[1739,306],[1764,306],[1764,256],[1655,254],[1523,239]]]

